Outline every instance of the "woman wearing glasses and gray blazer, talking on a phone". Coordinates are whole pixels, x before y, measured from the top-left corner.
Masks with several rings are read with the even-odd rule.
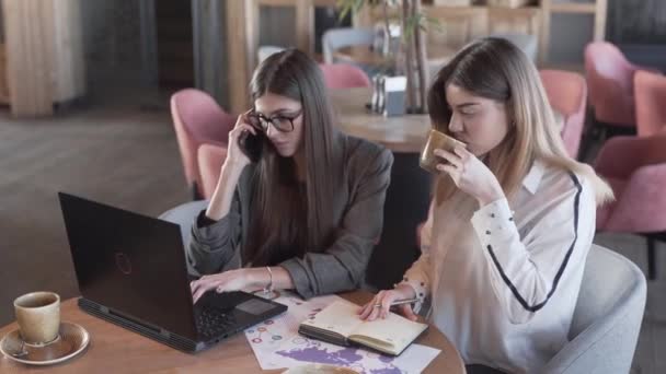
[[[358,288],[381,233],[392,154],[336,129],[321,70],[299,50],[264,60],[250,87],[254,107],[229,133],[192,230],[188,261],[205,274],[192,282],[194,301],[211,290],[310,297]],[[239,147],[252,136],[257,162]]]

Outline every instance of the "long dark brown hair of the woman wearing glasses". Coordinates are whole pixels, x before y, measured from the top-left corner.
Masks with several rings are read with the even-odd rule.
[[[272,93],[302,105],[305,187],[297,180],[292,157],[280,156],[268,140],[253,175],[243,261],[263,266],[330,242],[342,148],[321,69],[302,51],[287,49],[265,59],[254,71],[250,91],[253,102]]]

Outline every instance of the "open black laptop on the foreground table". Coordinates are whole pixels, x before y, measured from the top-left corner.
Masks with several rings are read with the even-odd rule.
[[[185,352],[198,352],[287,306],[246,292],[193,305],[177,224],[59,192],[81,309]]]

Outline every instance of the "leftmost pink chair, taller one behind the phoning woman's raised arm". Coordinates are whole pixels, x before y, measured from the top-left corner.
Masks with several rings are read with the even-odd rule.
[[[197,149],[204,142],[227,147],[236,117],[227,114],[207,93],[185,89],[171,96],[171,117],[183,160],[183,170],[194,199],[204,196]]]

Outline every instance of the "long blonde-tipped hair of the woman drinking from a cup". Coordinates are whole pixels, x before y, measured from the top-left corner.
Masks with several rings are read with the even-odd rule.
[[[589,165],[566,153],[539,72],[510,42],[494,37],[476,40],[437,73],[428,92],[428,109],[435,129],[445,133],[450,133],[452,115],[446,100],[448,84],[505,104],[509,128],[505,139],[489,152],[487,165],[507,198],[514,197],[532,163],[540,160],[588,179],[597,204],[612,200],[608,184]],[[435,190],[439,204],[456,186],[451,178],[439,177]]]

